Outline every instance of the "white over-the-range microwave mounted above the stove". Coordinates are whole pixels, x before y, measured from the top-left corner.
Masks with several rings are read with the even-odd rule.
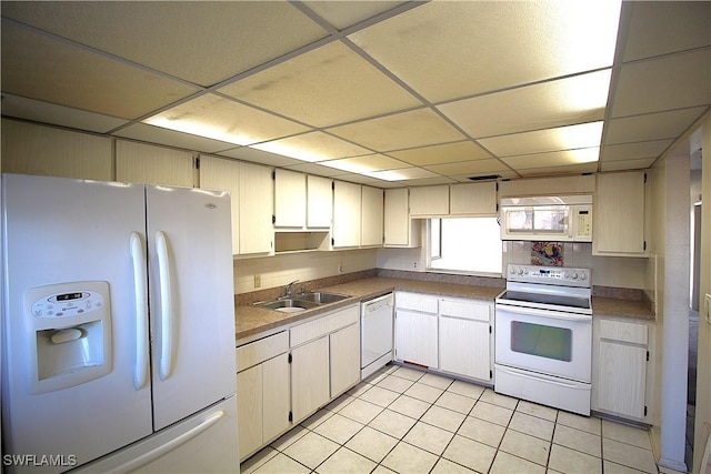
[[[501,240],[592,242],[592,195],[501,198]]]

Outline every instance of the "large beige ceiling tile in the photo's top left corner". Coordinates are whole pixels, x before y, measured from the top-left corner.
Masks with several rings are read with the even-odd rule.
[[[327,36],[288,2],[2,2],[2,14],[200,85]]]

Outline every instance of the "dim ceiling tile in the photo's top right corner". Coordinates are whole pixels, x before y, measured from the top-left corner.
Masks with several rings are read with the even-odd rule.
[[[711,46],[711,2],[633,1],[623,61]]]

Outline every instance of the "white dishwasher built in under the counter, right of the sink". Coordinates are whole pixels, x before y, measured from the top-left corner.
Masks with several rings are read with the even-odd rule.
[[[393,311],[392,293],[360,304],[361,379],[392,361]]]

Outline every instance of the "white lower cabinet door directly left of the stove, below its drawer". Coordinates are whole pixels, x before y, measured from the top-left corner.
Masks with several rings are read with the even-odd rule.
[[[440,369],[473,379],[491,380],[489,323],[440,317]]]

